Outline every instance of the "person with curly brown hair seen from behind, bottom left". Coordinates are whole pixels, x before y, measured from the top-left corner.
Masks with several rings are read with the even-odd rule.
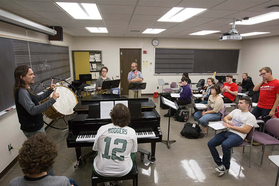
[[[78,186],[72,178],[47,174],[57,155],[57,146],[52,138],[43,132],[32,135],[24,141],[18,156],[19,165],[25,176],[12,179],[9,186]]]

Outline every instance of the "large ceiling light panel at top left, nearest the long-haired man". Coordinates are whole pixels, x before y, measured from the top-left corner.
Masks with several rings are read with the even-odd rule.
[[[64,11],[74,19],[101,20],[100,12],[93,3],[56,2]]]

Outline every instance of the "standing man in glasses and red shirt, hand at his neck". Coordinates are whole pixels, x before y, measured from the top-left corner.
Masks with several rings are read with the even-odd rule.
[[[279,81],[273,78],[270,67],[263,67],[259,72],[263,80],[253,89],[253,91],[260,90],[259,103],[251,113],[256,118],[262,116],[262,120],[266,123],[274,116],[279,104]]]

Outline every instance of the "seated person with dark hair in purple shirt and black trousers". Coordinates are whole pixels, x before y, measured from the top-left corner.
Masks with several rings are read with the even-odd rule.
[[[179,93],[180,97],[179,98],[176,98],[176,104],[179,106],[179,105],[185,105],[185,104],[189,104],[191,103],[191,97],[192,97],[192,91],[191,91],[191,88],[190,86],[188,85],[188,78],[185,78],[185,77],[182,77],[181,78],[181,82],[182,82],[182,89]],[[175,114],[175,109],[173,108],[170,108],[170,114],[169,112],[166,113],[164,115],[164,117],[171,117],[171,116],[174,116]]]

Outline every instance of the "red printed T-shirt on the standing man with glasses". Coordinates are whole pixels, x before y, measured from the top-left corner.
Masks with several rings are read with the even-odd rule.
[[[259,108],[272,109],[276,100],[276,95],[279,94],[279,80],[274,79],[263,83],[260,87]]]

